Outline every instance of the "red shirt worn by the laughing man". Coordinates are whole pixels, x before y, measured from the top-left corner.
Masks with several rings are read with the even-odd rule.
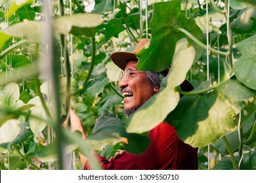
[[[97,155],[102,169],[198,169],[198,148],[184,144],[171,125],[161,123],[150,131],[149,137],[150,146],[140,155],[125,152],[120,158],[110,158],[110,160]],[[84,168],[89,169],[88,163]]]

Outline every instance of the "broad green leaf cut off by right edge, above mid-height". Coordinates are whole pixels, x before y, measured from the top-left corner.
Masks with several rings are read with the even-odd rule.
[[[242,56],[234,63],[234,74],[245,86],[256,90],[256,35],[236,44]]]

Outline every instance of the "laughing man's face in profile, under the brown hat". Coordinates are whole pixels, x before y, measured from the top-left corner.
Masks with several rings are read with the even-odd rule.
[[[154,93],[154,88],[148,84],[146,74],[144,72],[137,72],[137,61],[129,61],[125,70],[129,69],[130,75],[127,80],[123,76],[119,80],[119,88],[121,88],[123,96],[123,103],[125,110],[137,109],[142,106]]]

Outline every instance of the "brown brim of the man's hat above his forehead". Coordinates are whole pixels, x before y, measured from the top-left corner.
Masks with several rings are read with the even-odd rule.
[[[123,71],[129,60],[138,60],[136,54],[133,52],[114,52],[110,55],[110,58]]]

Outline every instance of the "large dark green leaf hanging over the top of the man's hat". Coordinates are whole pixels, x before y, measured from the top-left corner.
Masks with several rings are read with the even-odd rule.
[[[137,67],[142,71],[163,71],[169,67],[176,42],[185,37],[183,33],[177,31],[177,27],[186,29],[199,41],[203,39],[202,31],[195,21],[187,19],[181,14],[179,0],[156,3],[150,27],[152,27],[150,46],[143,48],[137,54],[139,58]],[[190,39],[188,39],[188,42],[196,49],[194,60],[197,61],[203,49]]]

